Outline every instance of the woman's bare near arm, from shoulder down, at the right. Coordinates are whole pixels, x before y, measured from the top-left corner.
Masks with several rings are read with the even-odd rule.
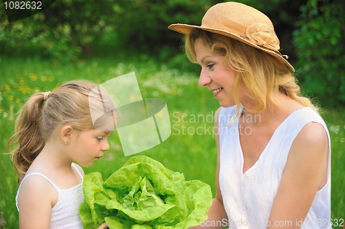
[[[328,137],[319,123],[307,123],[290,148],[267,228],[301,228],[317,190],[325,184]],[[315,219],[317,220],[317,219]],[[322,220],[322,219],[321,219]],[[282,226],[284,224],[284,226]]]

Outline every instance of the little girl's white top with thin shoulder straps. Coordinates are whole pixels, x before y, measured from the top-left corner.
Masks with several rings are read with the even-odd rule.
[[[72,163],[73,168],[77,170],[78,174],[80,175],[81,179],[83,176],[77,169],[74,163]],[[77,186],[68,189],[61,189],[55,183],[53,183],[46,175],[43,175],[40,172],[31,172],[30,174],[26,175],[23,179],[25,181],[26,178],[32,175],[39,175],[44,177],[52,186],[57,190],[59,193],[59,199],[57,203],[52,208],[52,215],[50,217],[50,229],[83,229],[83,225],[81,224],[81,219],[79,215],[79,205],[83,203],[83,182],[79,183]],[[23,183],[21,181],[21,184]],[[18,208],[18,194],[19,189],[21,188],[21,184],[18,188],[17,196],[16,196],[16,205]]]

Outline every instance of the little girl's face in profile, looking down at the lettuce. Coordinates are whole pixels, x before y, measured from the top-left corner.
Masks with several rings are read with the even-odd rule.
[[[74,152],[70,152],[73,160],[84,167],[92,166],[109,150],[108,137],[111,133],[112,131],[97,129],[75,132],[70,139],[70,145],[74,149]]]

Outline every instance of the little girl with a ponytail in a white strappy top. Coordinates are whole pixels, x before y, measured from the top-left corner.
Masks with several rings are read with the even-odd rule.
[[[92,121],[90,113],[115,109],[104,97],[93,83],[71,81],[32,95],[23,106],[8,142],[20,183],[16,201],[21,229],[83,228],[78,210],[84,173],[72,161],[89,167],[109,149],[113,117]],[[107,228],[106,223],[99,228]]]

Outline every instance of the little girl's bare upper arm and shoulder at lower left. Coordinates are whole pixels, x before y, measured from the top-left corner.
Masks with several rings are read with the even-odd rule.
[[[28,177],[19,190],[19,228],[48,229],[57,191],[43,177]]]

